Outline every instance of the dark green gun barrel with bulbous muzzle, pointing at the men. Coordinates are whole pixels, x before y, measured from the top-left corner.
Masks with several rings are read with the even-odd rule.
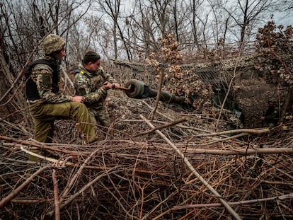
[[[130,79],[130,81],[127,81],[127,83],[125,84],[125,87],[120,87],[117,89],[125,91],[126,95],[130,98],[154,98],[158,95],[158,91],[149,88],[149,86],[147,86],[144,82],[137,79]],[[183,104],[185,102],[185,97],[174,95],[166,91],[161,91],[159,100],[166,103]]]

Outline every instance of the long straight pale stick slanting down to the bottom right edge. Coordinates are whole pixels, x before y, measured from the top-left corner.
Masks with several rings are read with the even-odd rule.
[[[141,117],[142,120],[144,120],[146,124],[149,125],[149,127],[154,128],[154,125],[152,125],[151,122],[149,122],[149,120],[147,120],[143,115],[139,115],[139,117]],[[192,164],[188,161],[188,158],[184,156],[184,154],[175,146],[175,144],[173,144],[162,132],[156,130],[156,133],[159,134],[168,144],[170,144],[170,146],[176,151],[176,153],[183,159],[184,163],[186,164],[186,166],[188,166],[191,172],[193,172],[193,174],[202,182],[202,184],[205,185],[205,187],[207,187],[207,189],[209,189],[209,191],[211,191],[212,194],[214,194],[214,196],[219,199],[219,201],[226,208],[226,210],[232,216],[234,216],[235,219],[241,220],[239,214],[237,214],[234,211],[234,209],[232,209],[230,205],[222,198],[222,196],[219,195],[219,193],[216,190],[214,190],[214,188],[211,185],[209,185],[209,183],[207,183],[207,181],[204,178],[202,178],[202,176],[199,173],[197,173],[195,168],[193,168]]]

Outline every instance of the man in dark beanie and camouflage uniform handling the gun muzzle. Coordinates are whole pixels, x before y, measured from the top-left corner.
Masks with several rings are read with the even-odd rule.
[[[105,106],[107,91],[119,88],[110,74],[100,66],[100,55],[88,51],[75,71],[74,86],[77,95],[84,95],[84,103],[88,107],[94,125],[110,126],[110,117]]]

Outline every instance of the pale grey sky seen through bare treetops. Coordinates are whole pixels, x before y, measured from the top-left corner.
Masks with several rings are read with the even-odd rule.
[[[235,45],[241,36],[253,41],[272,14],[276,25],[292,25],[292,5],[285,0],[3,1],[1,14],[7,16],[0,21],[14,61],[26,60],[50,30],[66,38],[72,62],[89,49],[104,59],[139,60],[140,54],[158,51],[158,37],[166,33],[192,53],[212,50],[223,39]],[[115,22],[110,14],[117,16]]]

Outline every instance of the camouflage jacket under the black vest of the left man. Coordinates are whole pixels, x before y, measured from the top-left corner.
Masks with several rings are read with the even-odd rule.
[[[60,77],[60,64],[52,57],[43,57],[50,60],[53,64],[56,64],[58,69],[58,82]],[[30,77],[36,83],[38,93],[41,100],[46,100],[47,103],[64,103],[72,100],[69,95],[63,95],[62,93],[54,92],[53,85],[53,72],[54,70],[47,64],[36,64],[33,66]],[[58,85],[57,85],[58,86]]]

